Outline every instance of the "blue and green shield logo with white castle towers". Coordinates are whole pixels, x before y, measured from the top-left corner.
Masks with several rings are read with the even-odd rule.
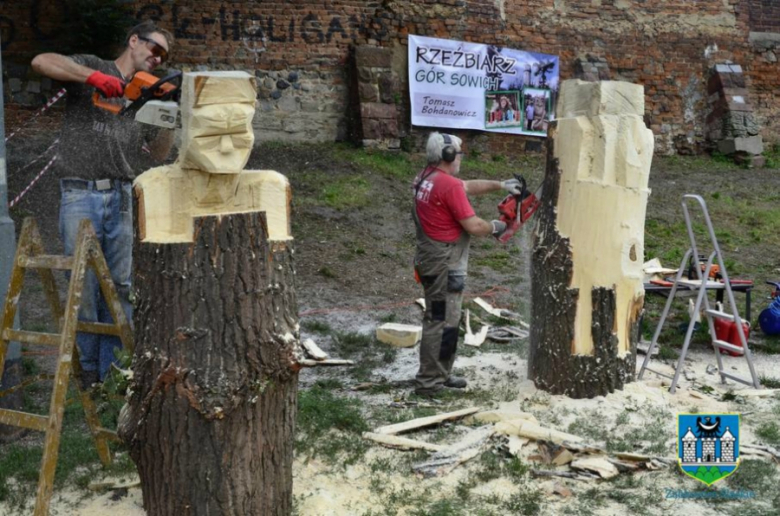
[[[678,414],[677,460],[708,486],[739,467],[739,414]]]

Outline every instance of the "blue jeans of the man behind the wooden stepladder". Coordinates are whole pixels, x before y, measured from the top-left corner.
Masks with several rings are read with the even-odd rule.
[[[128,321],[132,324],[130,303],[133,268],[132,183],[111,180],[107,190],[97,190],[94,181],[65,178],[60,180],[60,236],[65,254],[72,256],[76,247],[79,223],[89,219],[111,271]],[[108,305],[100,292],[95,274],[88,270],[82,292],[79,320],[111,323]],[[114,349],[121,348],[119,337],[79,332],[76,342],[84,371],[98,371],[102,381],[115,362]]]

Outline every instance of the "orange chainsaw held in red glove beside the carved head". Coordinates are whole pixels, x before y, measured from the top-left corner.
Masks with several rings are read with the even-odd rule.
[[[137,72],[125,85],[121,103],[103,100],[98,92],[92,95],[92,103],[115,115],[133,117],[144,124],[173,129],[180,123],[181,76],[181,72],[177,71],[160,79],[147,72]]]

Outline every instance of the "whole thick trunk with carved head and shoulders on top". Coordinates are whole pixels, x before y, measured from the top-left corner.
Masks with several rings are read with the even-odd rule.
[[[182,81],[178,161],[135,181],[135,355],[119,433],[150,516],[288,515],[298,338],[290,185],[243,170],[255,77]]]

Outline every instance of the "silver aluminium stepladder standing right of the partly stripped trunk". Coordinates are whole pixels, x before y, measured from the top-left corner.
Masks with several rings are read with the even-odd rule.
[[[695,201],[699,204],[701,207],[702,213],[704,215],[704,220],[707,223],[707,232],[709,233],[710,237],[710,243],[712,245],[712,248],[714,249],[712,253],[709,255],[709,259],[707,260],[707,264],[704,267],[704,271],[701,270],[701,266],[699,263],[696,263],[696,266],[693,267],[694,270],[696,270],[696,275],[698,277],[697,280],[691,281],[690,278],[688,280],[683,279],[683,270],[685,269],[685,266],[689,263],[689,259],[692,257],[696,260],[698,260],[699,257],[699,249],[696,245],[696,237],[693,234],[693,226],[691,224],[691,216],[688,211],[688,203],[689,201]],[[742,318],[739,316],[739,311],[737,310],[737,305],[734,302],[734,292],[731,290],[731,283],[729,280],[728,271],[726,271],[726,264],[723,261],[723,254],[720,252],[720,246],[718,245],[718,240],[715,237],[715,230],[712,226],[712,221],[710,220],[710,214],[707,211],[707,204],[704,202],[704,199],[700,195],[683,195],[683,201],[682,201],[682,208],[683,208],[683,214],[685,215],[685,227],[688,231],[688,239],[690,240],[691,247],[688,249],[688,251],[685,253],[685,256],[683,257],[682,261],[680,262],[680,268],[677,270],[677,275],[674,280],[674,284],[672,286],[671,292],[669,292],[669,297],[666,300],[666,305],[664,306],[664,311],[661,315],[661,319],[658,321],[658,326],[655,329],[655,334],[653,334],[653,340],[650,343],[650,348],[647,350],[647,355],[645,355],[645,359],[642,362],[642,368],[639,370],[639,379],[642,379],[642,375],[645,371],[650,371],[651,373],[655,373],[660,376],[664,376],[666,378],[669,378],[672,380],[672,385],[669,387],[669,392],[674,394],[675,390],[677,389],[677,380],[680,377],[680,372],[683,370],[683,366],[685,363],[685,356],[688,354],[688,346],[691,343],[691,336],[693,335],[694,326],[695,326],[695,318],[691,317],[691,321],[688,324],[688,331],[685,333],[685,341],[683,342],[682,351],[680,352],[680,358],[677,360],[677,364],[674,368],[674,376],[669,376],[665,373],[661,373],[658,371],[655,371],[653,369],[650,369],[647,367],[647,365],[650,363],[650,357],[653,353],[653,350],[655,350],[656,346],[658,345],[658,337],[661,334],[661,330],[663,329],[664,322],[666,321],[666,317],[669,315],[669,309],[672,306],[672,302],[674,301],[675,295],[677,293],[678,286],[683,285],[686,289],[692,289],[694,291],[697,291],[696,296],[696,303],[694,305],[694,313],[698,313],[701,308],[702,304],[704,305],[704,314],[707,318],[707,323],[710,330],[710,338],[712,341],[712,347],[715,351],[715,356],[718,360],[718,374],[720,374],[720,381],[721,383],[726,383],[726,379],[734,380],[740,383],[744,383],[746,385],[752,385],[756,389],[761,387],[760,382],[758,381],[758,377],[756,376],[756,370],[753,366],[753,358],[750,353],[750,349],[747,345],[747,338],[745,337],[744,328],[742,326]],[[704,281],[705,278],[710,277],[710,270],[712,269],[713,260],[717,259],[718,265],[720,266],[720,274],[723,277],[723,284],[722,286],[720,284],[713,284],[713,282],[710,281]],[[726,291],[726,308],[724,308],[724,311],[720,310],[713,310],[710,308],[710,302],[709,297],[707,296],[708,290],[714,290],[715,287],[717,289],[724,289]],[[728,311],[730,309],[730,311]],[[727,321],[733,321],[736,324],[737,333],[739,334],[739,340],[742,344],[742,347],[735,346],[729,342],[725,342],[723,340],[719,340],[717,338],[717,335],[715,333],[715,324],[713,324],[713,319],[724,319]],[[748,368],[750,369],[750,376],[751,380],[746,380],[744,378],[740,378],[738,376],[729,374],[723,370],[723,357],[721,356],[720,350],[724,349],[727,351],[732,351],[734,353],[743,355],[745,357],[745,360],[747,361]]]

